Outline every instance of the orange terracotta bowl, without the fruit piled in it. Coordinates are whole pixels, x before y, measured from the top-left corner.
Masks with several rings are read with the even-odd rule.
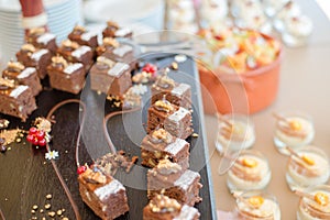
[[[265,109],[276,98],[283,51],[266,65],[242,74],[207,69],[198,63],[206,113],[254,113]]]

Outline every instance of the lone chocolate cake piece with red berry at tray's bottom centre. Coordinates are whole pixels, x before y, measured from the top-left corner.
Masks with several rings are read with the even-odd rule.
[[[79,193],[87,206],[101,219],[112,220],[129,211],[124,186],[97,167],[89,168],[78,176]]]

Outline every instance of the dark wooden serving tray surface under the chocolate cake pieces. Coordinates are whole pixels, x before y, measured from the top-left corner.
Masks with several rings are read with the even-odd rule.
[[[153,54],[140,57],[140,61],[155,63],[161,67],[169,65],[174,54]],[[217,219],[213,202],[212,183],[210,176],[208,147],[204,128],[204,112],[199,88],[199,78],[195,62],[189,58],[179,64],[179,70],[170,72],[169,76],[178,82],[187,82],[193,89],[193,122],[194,130],[198,138],[188,138],[190,148],[190,169],[201,175],[200,190],[202,201],[196,206],[199,209],[202,220]],[[45,85],[46,86],[46,85]],[[106,142],[102,121],[109,112],[118,111],[106,100],[103,95],[97,95],[89,89],[87,77],[86,89],[79,96],[74,96],[58,90],[46,89],[37,97],[38,109],[33,112],[28,122],[22,123],[19,119],[0,116],[10,120],[10,129],[22,128],[28,130],[36,117],[46,117],[47,112],[56,103],[66,99],[80,99],[87,106],[86,122],[84,124],[82,138],[79,147],[79,162],[91,163],[94,160],[110,152]],[[145,135],[146,109],[150,105],[150,88],[143,95],[143,108],[141,110],[117,114],[108,122],[109,135],[117,150],[124,150],[129,155],[140,156],[140,143]],[[98,219],[97,216],[82,202],[77,182],[77,167],[75,162],[75,144],[79,130],[81,111],[77,103],[69,103],[55,112],[56,123],[53,125],[51,148],[59,152],[55,161],[61,175],[77,205],[81,219]],[[47,217],[44,205],[50,202],[51,210],[65,209],[64,216],[75,219],[74,209],[65,194],[64,188],[52,166],[45,160],[45,148],[34,148],[25,139],[21,143],[12,143],[11,150],[0,154],[0,209],[8,220],[32,219],[32,217]],[[128,191],[130,211],[118,219],[142,219],[142,209],[147,204],[146,198],[146,168],[141,166],[141,160],[132,168],[131,173],[118,172],[119,179]],[[51,194],[53,198],[46,200],[45,196]],[[31,213],[32,207],[40,208],[36,213]],[[44,209],[40,213],[40,209]],[[1,215],[0,215],[1,219]],[[61,219],[56,217],[55,219]]]

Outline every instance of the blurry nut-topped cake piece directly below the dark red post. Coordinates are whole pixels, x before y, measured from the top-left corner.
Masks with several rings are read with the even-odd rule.
[[[54,34],[47,33],[44,28],[31,29],[26,42],[33,44],[36,48],[50,50],[53,54],[56,53],[56,36]]]

